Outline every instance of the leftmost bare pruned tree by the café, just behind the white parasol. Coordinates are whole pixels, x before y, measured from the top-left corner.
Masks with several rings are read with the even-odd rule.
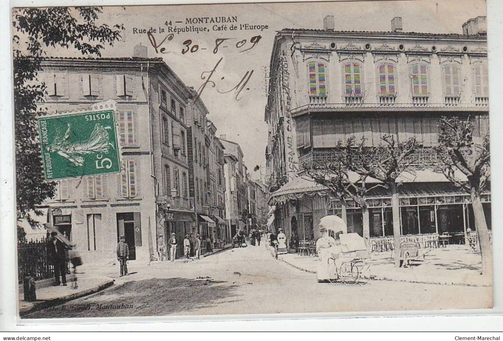
[[[369,204],[367,194],[377,187],[384,187],[382,184],[372,184],[368,186],[367,176],[359,175],[358,178],[351,179],[350,170],[347,164],[348,158],[345,155],[346,149],[339,149],[338,160],[320,161],[305,164],[306,175],[319,185],[330,190],[332,196],[342,203],[342,219],[347,222],[347,200],[353,200],[362,209],[363,217],[363,238],[369,246],[370,219]]]

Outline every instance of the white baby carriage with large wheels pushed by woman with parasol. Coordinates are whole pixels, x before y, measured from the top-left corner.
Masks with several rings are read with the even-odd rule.
[[[328,274],[331,283],[365,284],[371,275],[369,251],[358,233],[340,235],[341,244],[333,248]]]

